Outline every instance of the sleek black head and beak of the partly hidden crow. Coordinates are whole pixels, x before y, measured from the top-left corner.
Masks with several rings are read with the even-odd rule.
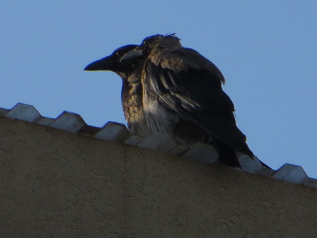
[[[136,67],[136,64],[139,62],[140,58],[130,59],[125,62],[120,62],[120,59],[123,55],[135,49],[136,47],[137,45],[122,46],[114,50],[111,55],[88,64],[84,70],[110,70],[117,73],[119,76],[122,76],[122,74],[129,74]]]

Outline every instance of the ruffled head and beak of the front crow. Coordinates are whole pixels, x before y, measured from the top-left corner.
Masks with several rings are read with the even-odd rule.
[[[154,35],[146,37],[135,49],[127,52],[120,62],[126,62],[138,57],[147,57],[153,50],[163,50],[169,48],[181,48],[180,39],[175,33],[168,35]]]

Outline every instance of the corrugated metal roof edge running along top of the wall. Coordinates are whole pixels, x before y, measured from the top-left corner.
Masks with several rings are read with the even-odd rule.
[[[93,136],[101,140],[110,140],[141,148],[153,149],[172,155],[183,156],[195,162],[215,163],[218,159],[216,150],[206,144],[197,143],[191,148],[177,145],[173,139],[165,134],[154,133],[147,138],[131,135],[124,124],[107,122],[103,127],[89,126],[80,115],[64,111],[57,118],[41,116],[35,107],[17,103],[12,109],[0,108],[0,116],[18,119],[26,122],[35,122],[44,126]],[[242,171],[273,177],[276,179],[304,184],[317,188],[317,179],[309,178],[301,166],[284,164],[278,170],[264,168],[257,157],[252,160],[247,155],[238,155]]]

